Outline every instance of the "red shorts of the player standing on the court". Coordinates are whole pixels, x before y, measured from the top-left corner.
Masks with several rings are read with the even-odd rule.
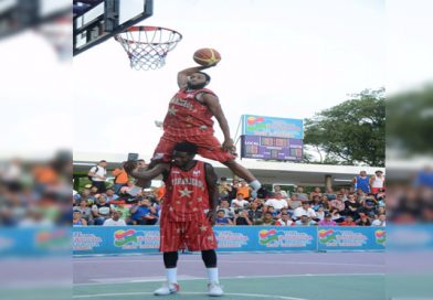
[[[216,249],[216,238],[207,218],[191,222],[172,222],[167,218],[160,224],[162,253],[188,248],[190,251]]]

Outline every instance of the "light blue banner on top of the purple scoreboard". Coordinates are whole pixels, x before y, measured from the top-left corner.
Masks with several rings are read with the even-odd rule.
[[[242,115],[242,136],[304,139],[304,120]]]

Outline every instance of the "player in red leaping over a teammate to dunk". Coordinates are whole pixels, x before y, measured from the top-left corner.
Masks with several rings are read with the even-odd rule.
[[[245,179],[255,197],[261,183],[249,170],[235,162],[235,147],[220,101],[212,90],[204,88],[211,77],[201,71],[214,65],[179,72],[180,89],[170,100],[163,120],[163,135],[155,150],[151,165],[161,160],[169,162],[175,143],[189,141],[198,146],[200,156],[225,164],[233,173]],[[213,136],[212,117],[215,117],[224,135],[222,146]]]

